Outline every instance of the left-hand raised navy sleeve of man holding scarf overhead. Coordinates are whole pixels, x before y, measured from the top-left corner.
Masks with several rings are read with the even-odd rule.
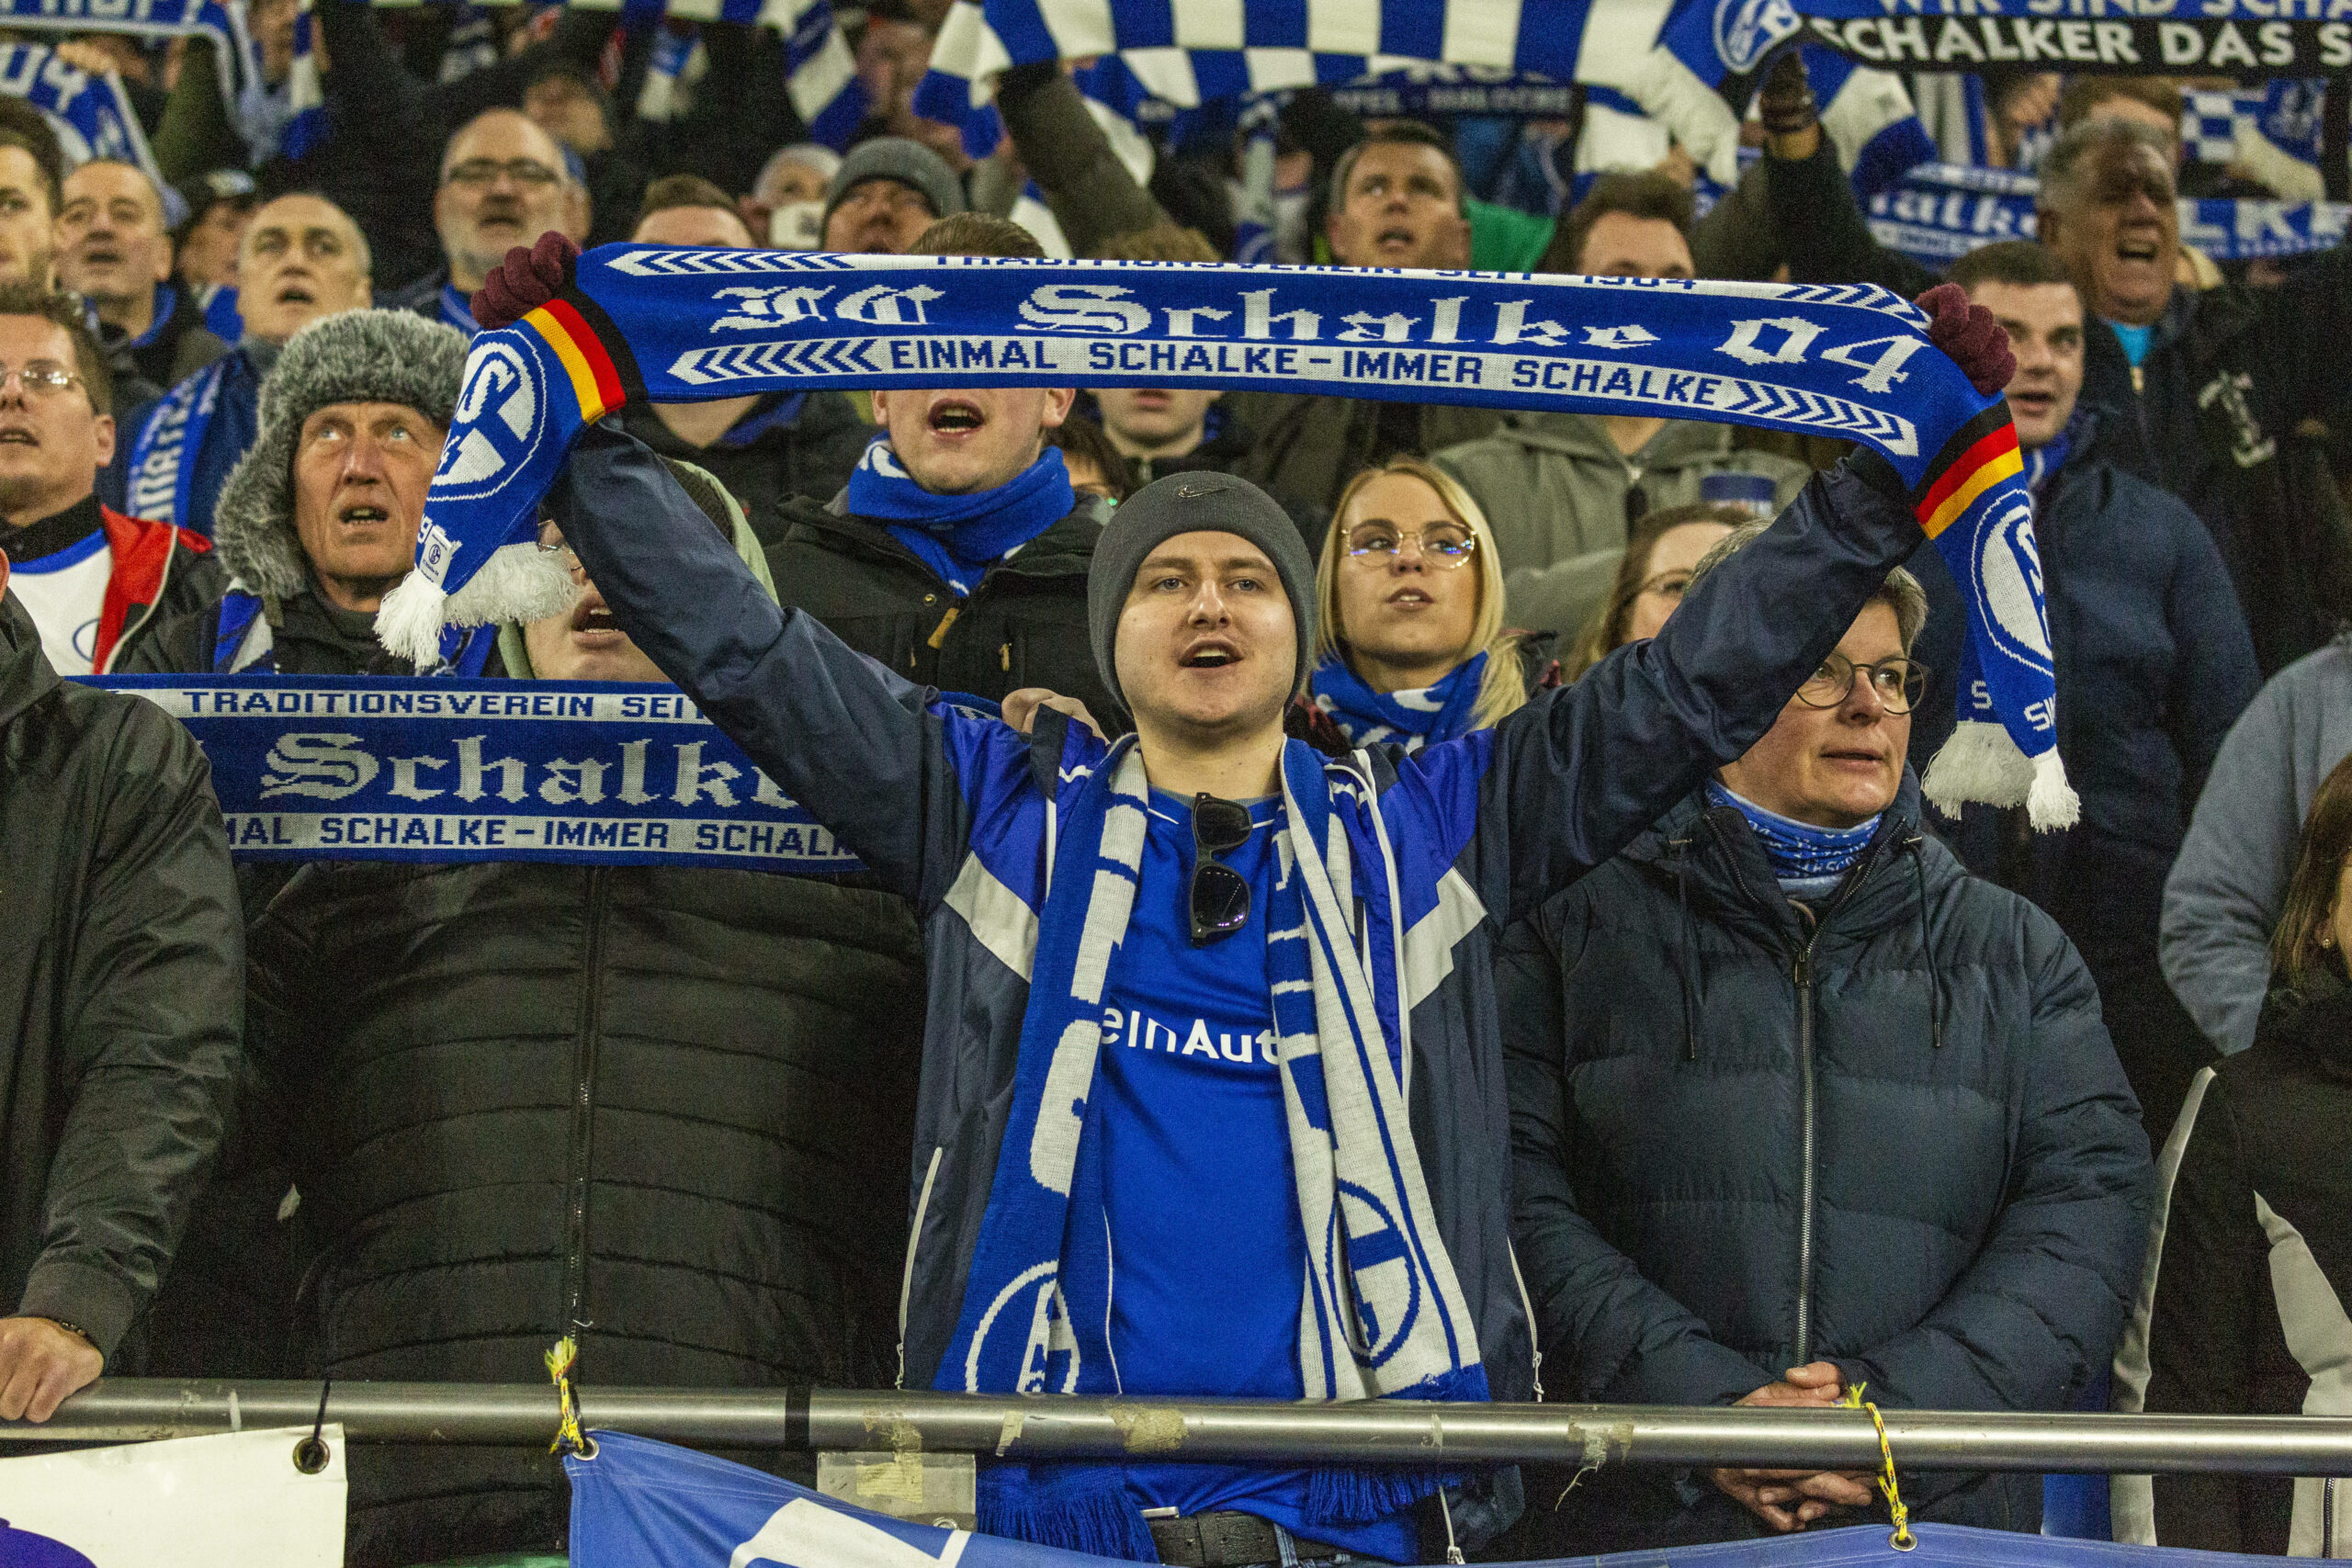
[[[581,433],[548,512],[647,658],[894,891],[931,905],[969,818],[929,696],[779,607],[623,430]]]

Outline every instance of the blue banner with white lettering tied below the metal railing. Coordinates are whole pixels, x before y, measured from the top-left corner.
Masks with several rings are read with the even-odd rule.
[[[1049,1408],[1049,1406],[1042,1406]],[[1009,1427],[1011,1429],[1011,1427]],[[868,1514],[835,1497],[642,1436],[597,1432],[567,1458],[572,1568],[1117,1568],[1117,1559],[1033,1547]],[[988,1460],[981,1460],[983,1465]],[[887,1476],[898,1483],[901,1476]],[[920,1483],[920,1476],[915,1476]],[[901,1486],[901,1490],[906,1490]],[[917,1490],[920,1495],[920,1490]],[[1860,1519],[1856,1514],[1856,1519]],[[2103,1540],[1915,1523],[1896,1549],[1884,1512],[1844,1530],[1581,1556],[1576,1568],[2277,1568],[2274,1556],[2117,1547]],[[1439,1552],[1442,1552],[1439,1542]],[[1437,1561],[1428,1552],[1425,1561]],[[1569,1568],[1531,1563],[1529,1568]]]

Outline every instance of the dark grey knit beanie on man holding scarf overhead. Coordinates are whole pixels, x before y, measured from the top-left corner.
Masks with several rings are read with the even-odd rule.
[[[1115,644],[1120,639],[1120,611],[1136,585],[1136,571],[1145,557],[1178,534],[1237,534],[1247,538],[1282,578],[1282,592],[1291,602],[1291,623],[1298,628],[1298,670],[1294,689],[1305,682],[1315,656],[1315,557],[1298,524],[1272,496],[1251,484],[1221,473],[1171,473],[1152,480],[1110,515],[1103,536],[1094,541],[1094,562],[1087,567],[1087,635],[1094,637],[1094,663],[1103,672],[1110,696],[1122,708],[1131,708],[1120,691]]]

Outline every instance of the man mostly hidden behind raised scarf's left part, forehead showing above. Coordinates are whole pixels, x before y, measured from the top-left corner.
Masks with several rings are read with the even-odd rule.
[[[717,249],[755,242],[734,200],[699,174],[668,174],[647,186],[630,240]],[[743,503],[762,545],[783,538],[786,498],[840,494],[873,435],[847,393],[630,402],[614,418],[661,456],[717,475]]]

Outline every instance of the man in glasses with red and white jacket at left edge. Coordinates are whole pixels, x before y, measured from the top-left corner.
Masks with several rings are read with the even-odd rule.
[[[59,675],[103,675],[221,590],[202,536],[99,503],[113,381],[78,299],[0,284],[0,552]]]

